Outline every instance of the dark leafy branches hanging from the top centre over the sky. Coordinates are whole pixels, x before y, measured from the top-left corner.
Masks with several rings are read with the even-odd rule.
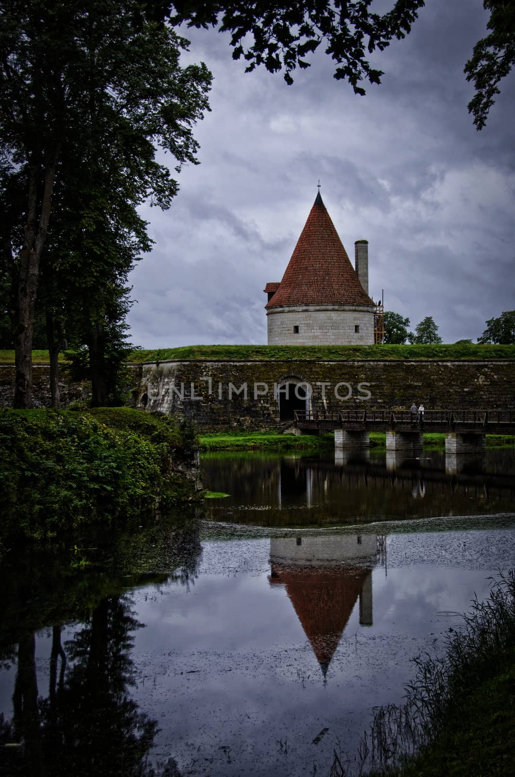
[[[157,16],[163,3],[149,3]],[[324,41],[338,67],[335,78],[348,81],[354,92],[365,94],[358,84],[363,78],[380,83],[380,70],[370,66],[366,51],[383,51],[394,38],[404,38],[418,16],[423,0],[403,0],[381,16],[370,12],[369,0],[349,0],[332,5],[308,0],[298,3],[249,4],[244,0],[218,3],[174,3],[171,22],[188,26],[218,26],[230,33],[233,59],[247,62],[247,72],[264,65],[271,73],[284,71],[286,83],[292,72],[309,68],[307,56]],[[166,8],[166,5],[164,6]]]

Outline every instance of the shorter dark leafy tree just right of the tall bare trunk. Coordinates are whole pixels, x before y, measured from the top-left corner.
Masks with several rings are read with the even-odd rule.
[[[128,348],[124,316],[130,307],[127,277],[152,241],[137,213],[135,176],[123,152],[63,160],[64,183],[54,197],[54,218],[41,260],[40,305],[47,317],[52,404],[58,406],[58,353],[69,343],[73,374],[92,382],[93,406],[114,399],[116,371]],[[82,347],[85,347],[84,349]]]

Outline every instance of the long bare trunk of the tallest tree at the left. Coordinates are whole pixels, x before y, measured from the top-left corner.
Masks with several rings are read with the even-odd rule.
[[[23,248],[19,256],[18,326],[15,352],[14,406],[20,408],[32,406],[32,336],[37,277],[41,252],[47,238],[58,154],[59,148],[56,148],[54,159],[44,167],[41,200],[39,197],[41,166],[38,162],[30,164],[27,218]]]

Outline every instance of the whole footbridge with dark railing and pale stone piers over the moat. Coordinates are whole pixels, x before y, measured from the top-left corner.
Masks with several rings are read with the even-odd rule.
[[[424,432],[440,432],[447,453],[478,453],[485,434],[515,433],[515,410],[296,410],[295,426],[301,434],[334,430],[337,449],[368,448],[370,432],[383,431],[387,450],[415,452]]]

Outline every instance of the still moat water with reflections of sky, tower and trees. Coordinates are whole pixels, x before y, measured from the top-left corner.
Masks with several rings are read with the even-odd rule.
[[[352,768],[412,657],[515,566],[513,449],[201,468],[230,496],[196,516],[5,559],[0,774]]]

